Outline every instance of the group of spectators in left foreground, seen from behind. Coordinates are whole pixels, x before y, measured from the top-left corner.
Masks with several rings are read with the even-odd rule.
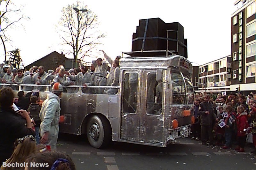
[[[0,169],[1,170],[36,170],[36,169],[59,169],[76,170],[72,159],[61,152],[51,151],[42,144],[36,145],[35,123],[40,124],[38,110],[40,111],[40,99],[38,91],[24,96],[24,92],[16,102],[21,102],[26,110],[14,110],[14,93],[12,88],[4,87],[0,90]],[[28,99],[27,99],[28,98]],[[23,100],[29,100],[30,104],[24,104]],[[34,120],[33,120],[33,119]],[[38,127],[38,126],[36,126]],[[45,149],[47,148],[47,149]],[[45,166],[33,166],[33,164]]]

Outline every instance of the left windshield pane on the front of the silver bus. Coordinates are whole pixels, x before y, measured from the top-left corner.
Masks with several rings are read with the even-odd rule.
[[[171,72],[172,104],[187,104],[186,86],[180,73]]]

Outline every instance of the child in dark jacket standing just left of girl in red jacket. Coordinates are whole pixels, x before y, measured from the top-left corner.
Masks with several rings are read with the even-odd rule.
[[[225,145],[221,147],[222,149],[228,149],[232,145],[232,134],[236,119],[236,115],[231,106],[227,106],[226,112],[228,113],[228,117],[225,119]]]

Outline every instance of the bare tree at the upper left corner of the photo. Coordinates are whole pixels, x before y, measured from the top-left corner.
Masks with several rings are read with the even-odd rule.
[[[4,45],[4,62],[6,63],[6,48],[5,41],[10,41],[7,34],[9,28],[15,27],[22,19],[30,19],[21,13],[23,5],[15,6],[11,0],[0,0],[0,38]]]

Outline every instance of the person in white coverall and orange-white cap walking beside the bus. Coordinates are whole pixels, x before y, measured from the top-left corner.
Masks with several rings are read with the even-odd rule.
[[[40,143],[50,145],[52,150],[57,149],[57,140],[59,134],[60,121],[60,96],[63,92],[63,87],[59,82],[52,86],[52,93],[47,95],[44,100],[39,117],[40,124]]]

